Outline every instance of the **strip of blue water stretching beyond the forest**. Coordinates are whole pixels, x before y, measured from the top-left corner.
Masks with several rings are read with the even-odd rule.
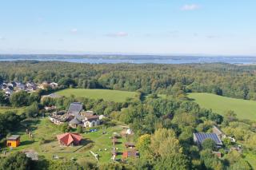
[[[256,64],[256,57],[129,57],[125,58],[110,58],[110,57],[62,57],[62,56],[0,56],[0,61],[18,61],[18,60],[37,60],[37,61],[67,61],[76,63],[156,63],[156,64],[186,64],[186,63],[230,63],[238,65],[252,65]]]

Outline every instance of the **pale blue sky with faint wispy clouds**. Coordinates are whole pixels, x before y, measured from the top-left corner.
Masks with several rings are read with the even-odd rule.
[[[255,0],[0,0],[0,53],[256,55]]]

